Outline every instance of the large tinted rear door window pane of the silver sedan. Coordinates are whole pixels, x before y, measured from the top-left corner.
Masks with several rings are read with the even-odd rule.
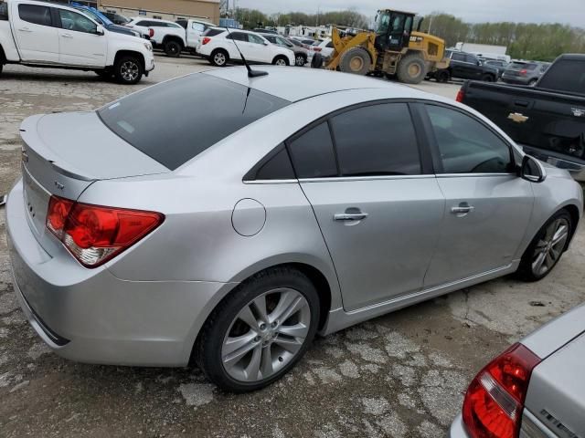
[[[350,110],[331,123],[342,176],[420,173],[419,148],[406,103]]]

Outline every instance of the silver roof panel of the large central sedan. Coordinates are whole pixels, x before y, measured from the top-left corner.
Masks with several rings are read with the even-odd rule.
[[[207,70],[204,74],[248,86],[291,102],[348,89],[384,89],[391,91],[393,99],[429,99],[431,96],[418,89],[411,89],[386,80],[324,69],[276,66],[255,68],[267,71],[269,75],[260,78],[248,78],[248,72],[244,67],[216,68]],[[291,84],[303,84],[303,86],[293,87]]]

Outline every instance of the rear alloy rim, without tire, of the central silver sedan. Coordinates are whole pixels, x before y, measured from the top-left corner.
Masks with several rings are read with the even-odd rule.
[[[302,349],[311,327],[307,299],[291,288],[272,289],[256,297],[231,322],[221,361],[236,381],[271,378]]]

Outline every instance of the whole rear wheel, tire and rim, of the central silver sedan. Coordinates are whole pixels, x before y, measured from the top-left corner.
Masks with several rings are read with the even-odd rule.
[[[303,357],[318,323],[313,283],[295,269],[272,268],[242,283],[207,318],[197,363],[224,391],[260,390]]]

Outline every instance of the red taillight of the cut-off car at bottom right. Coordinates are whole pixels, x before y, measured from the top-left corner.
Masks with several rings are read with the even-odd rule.
[[[517,438],[528,381],[540,362],[516,344],[473,379],[463,401],[463,422],[472,438]]]

